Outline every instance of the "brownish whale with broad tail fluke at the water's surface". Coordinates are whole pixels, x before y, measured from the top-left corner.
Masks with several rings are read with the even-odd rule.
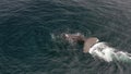
[[[69,41],[75,41],[75,42],[83,42],[83,52],[86,53],[88,52],[90,48],[97,44],[99,40],[97,37],[84,37],[84,35],[81,35],[80,33],[78,34],[64,34],[64,37]]]

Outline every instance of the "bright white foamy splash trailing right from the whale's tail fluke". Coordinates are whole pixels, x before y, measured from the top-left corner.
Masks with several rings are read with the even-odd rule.
[[[106,45],[106,42],[97,42],[90,49],[90,53],[93,57],[97,57],[107,62],[119,61],[131,63],[131,53],[124,51],[118,51]]]

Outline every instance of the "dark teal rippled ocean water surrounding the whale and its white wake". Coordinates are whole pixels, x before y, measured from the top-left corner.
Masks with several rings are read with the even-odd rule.
[[[0,0],[0,74],[130,74],[62,40],[95,36],[131,53],[130,0]]]

